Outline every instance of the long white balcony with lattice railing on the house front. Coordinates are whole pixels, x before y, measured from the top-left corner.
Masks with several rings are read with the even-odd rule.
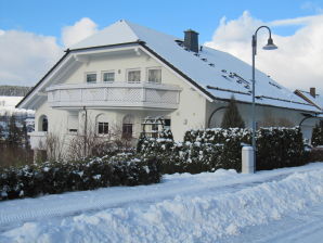
[[[52,107],[137,107],[176,110],[181,88],[158,84],[57,85],[47,89]]]

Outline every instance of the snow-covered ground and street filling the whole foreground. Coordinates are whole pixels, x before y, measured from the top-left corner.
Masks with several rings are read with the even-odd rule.
[[[323,163],[0,203],[0,242],[318,242]]]

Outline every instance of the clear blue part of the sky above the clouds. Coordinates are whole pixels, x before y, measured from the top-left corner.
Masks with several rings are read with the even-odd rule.
[[[175,36],[193,28],[199,31],[204,42],[211,38],[221,17],[233,20],[245,10],[255,18],[270,22],[316,14],[322,8],[323,0],[0,0],[0,28],[59,38],[63,26],[73,25],[81,17],[90,17],[99,28],[126,18]],[[288,26],[279,27],[275,31],[289,35],[296,29],[295,26]]]

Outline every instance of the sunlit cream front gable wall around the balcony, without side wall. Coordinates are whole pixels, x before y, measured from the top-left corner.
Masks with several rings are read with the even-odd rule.
[[[163,108],[141,108],[141,107],[87,107],[88,129],[98,129],[95,126],[96,117],[101,114],[107,117],[109,130],[121,129],[122,119],[126,115],[133,116],[133,137],[138,138],[142,131],[142,122],[145,117],[164,116],[171,119],[171,130],[176,140],[182,140],[184,132],[191,128],[205,128],[205,106],[206,99],[195,88],[192,88],[182,78],[178,77],[168,67],[160,64],[154,57],[145,53],[137,55],[134,52],[121,55],[104,55],[92,57],[89,62],[82,63],[67,77],[60,80],[60,85],[86,84],[87,73],[96,73],[96,82],[102,82],[102,72],[114,71],[115,82],[127,82],[128,69],[141,71],[141,82],[147,81],[147,69],[151,67],[162,68],[162,85],[171,85],[181,88],[179,104],[177,110]],[[57,84],[57,82],[56,82]],[[36,111],[36,131],[40,131],[39,118],[47,115],[49,120],[49,132],[54,132],[61,137],[65,136],[65,143],[76,136],[69,132],[68,117],[78,117],[78,133],[83,133],[83,108],[82,107],[62,107],[53,108],[48,101],[41,104]]]

